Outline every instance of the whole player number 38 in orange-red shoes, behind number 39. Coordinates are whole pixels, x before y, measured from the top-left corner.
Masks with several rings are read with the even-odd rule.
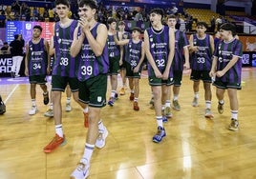
[[[84,109],[85,120],[88,108],[78,101],[78,79],[75,74],[77,63],[75,58],[70,55],[70,48],[74,38],[74,30],[77,21],[69,19],[70,4],[68,0],[57,0],[56,13],[60,19],[55,23],[53,31],[53,44],[55,60],[52,72],[52,91],[53,91],[53,118],[55,125],[55,136],[53,140],[44,148],[44,152],[52,152],[62,144],[65,144],[65,135],[62,129],[62,107],[61,93],[67,85],[70,85],[75,101]]]

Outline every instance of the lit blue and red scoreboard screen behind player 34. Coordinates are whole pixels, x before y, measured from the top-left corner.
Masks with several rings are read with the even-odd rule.
[[[15,34],[22,34],[25,43],[32,39],[32,28],[36,25],[42,27],[41,37],[50,40],[53,36],[53,22],[7,21],[6,40],[10,44]]]

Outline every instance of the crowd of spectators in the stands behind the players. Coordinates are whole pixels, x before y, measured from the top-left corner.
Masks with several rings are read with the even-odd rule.
[[[77,0],[71,0],[71,12],[70,17],[78,19],[77,14]],[[128,7],[117,7],[105,6],[102,3],[98,5],[97,11],[97,21],[107,24],[109,17],[114,17],[117,21],[149,21],[149,8],[135,8],[130,9]],[[179,9],[173,5],[172,7],[167,7],[164,10],[166,15],[175,14],[178,17],[177,29],[181,26],[181,21],[185,25],[185,31],[193,30],[193,26],[197,23],[198,19],[193,17],[191,13],[183,9],[179,5]],[[0,5],[0,28],[4,28],[6,21],[39,21],[39,22],[56,22],[58,17],[55,14],[55,10],[49,4],[45,4],[45,7],[29,7],[26,2],[19,2],[16,0],[11,4],[11,6]],[[209,26],[208,31],[214,32],[218,27],[227,22],[224,16],[212,16],[206,22]]]

